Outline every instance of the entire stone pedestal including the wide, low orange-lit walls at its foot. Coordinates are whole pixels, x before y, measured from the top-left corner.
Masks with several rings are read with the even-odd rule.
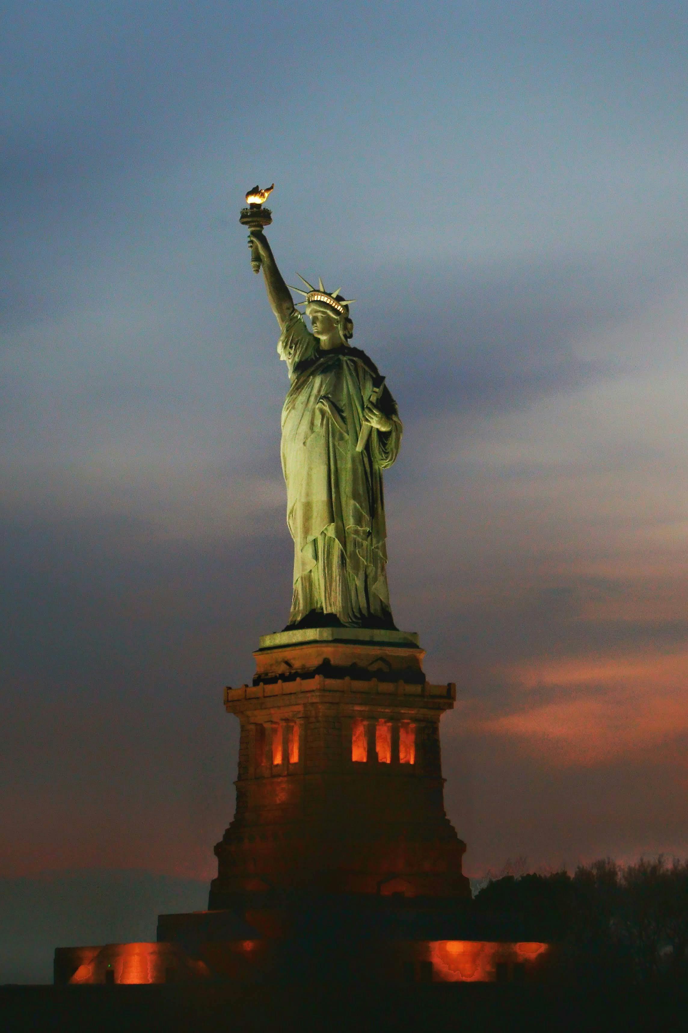
[[[480,918],[445,814],[439,718],[418,637],[317,628],[265,635],[241,723],[236,813],[209,911],[160,915],[158,943],[56,952],[59,982],[301,989],[536,975],[548,945]],[[530,935],[529,935],[530,933]]]

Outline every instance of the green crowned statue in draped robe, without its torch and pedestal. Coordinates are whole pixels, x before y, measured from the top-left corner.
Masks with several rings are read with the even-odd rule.
[[[247,198],[251,199],[251,198]],[[294,539],[294,594],[285,630],[394,628],[387,587],[382,471],[396,459],[401,420],[384,378],[350,345],[351,300],[304,295],[309,332],[262,228],[250,244],[262,264],[282,334],[277,354],[291,386],[282,411],[287,524]],[[256,268],[258,261],[254,268]],[[301,277],[301,279],[303,279]]]

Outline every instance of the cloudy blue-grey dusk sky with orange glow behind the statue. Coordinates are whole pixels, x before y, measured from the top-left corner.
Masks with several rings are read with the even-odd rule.
[[[0,25],[0,919],[29,929],[0,981],[154,938],[216,874],[222,689],[291,600],[257,181],[287,281],[357,299],[399,404],[392,606],[457,683],[465,871],[686,855],[685,0],[4,0]]]

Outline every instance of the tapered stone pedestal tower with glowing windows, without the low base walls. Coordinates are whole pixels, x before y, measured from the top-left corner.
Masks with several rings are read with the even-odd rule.
[[[456,687],[426,681],[418,636],[303,629],[254,656],[253,684],[225,690],[236,813],[209,907],[272,890],[467,898],[439,750]]]

